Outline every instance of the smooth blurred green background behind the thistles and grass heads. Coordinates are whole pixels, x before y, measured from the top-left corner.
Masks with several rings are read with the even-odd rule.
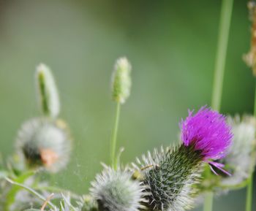
[[[124,163],[178,140],[187,109],[211,104],[221,1],[0,1],[0,150],[13,152],[21,123],[40,115],[34,70],[55,74],[61,117],[72,130],[68,168],[56,185],[87,193],[109,162],[115,104],[110,74],[116,58],[132,63],[132,94],[121,107],[118,147]],[[251,113],[254,79],[241,57],[249,50],[246,1],[235,1],[222,112]],[[256,186],[255,186],[256,187]],[[214,210],[244,210],[245,190],[216,199]],[[254,196],[255,199],[255,196]],[[197,210],[201,210],[197,208]],[[254,210],[256,202],[254,200]]]

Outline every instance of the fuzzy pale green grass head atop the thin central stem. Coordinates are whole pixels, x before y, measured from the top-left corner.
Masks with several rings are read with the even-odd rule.
[[[124,104],[129,97],[132,85],[131,70],[132,67],[127,58],[119,58],[116,61],[112,77],[112,97],[118,103]]]

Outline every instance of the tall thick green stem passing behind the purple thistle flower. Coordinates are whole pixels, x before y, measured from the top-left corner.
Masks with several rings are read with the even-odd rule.
[[[222,101],[222,87],[225,72],[225,61],[227,55],[228,35],[230,31],[230,22],[233,9],[233,0],[222,0],[222,9],[219,20],[219,35],[217,44],[217,55],[214,70],[214,87],[211,98],[211,107],[214,110],[220,110]],[[210,170],[209,170],[210,171]],[[214,202],[214,193],[206,193],[203,205],[204,211],[212,211]]]

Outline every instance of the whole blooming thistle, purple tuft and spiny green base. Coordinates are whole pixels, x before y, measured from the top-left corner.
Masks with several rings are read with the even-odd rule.
[[[140,173],[150,193],[146,206],[151,210],[180,211],[191,207],[203,164],[222,169],[212,160],[224,158],[232,134],[225,117],[202,107],[195,115],[189,112],[181,121],[182,144],[173,149],[155,150],[153,156],[143,156]],[[214,169],[213,169],[214,170]]]

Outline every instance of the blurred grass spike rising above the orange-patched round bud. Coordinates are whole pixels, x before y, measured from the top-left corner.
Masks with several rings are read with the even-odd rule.
[[[59,115],[59,93],[53,74],[48,66],[39,64],[36,71],[37,99],[44,115],[56,118]]]

